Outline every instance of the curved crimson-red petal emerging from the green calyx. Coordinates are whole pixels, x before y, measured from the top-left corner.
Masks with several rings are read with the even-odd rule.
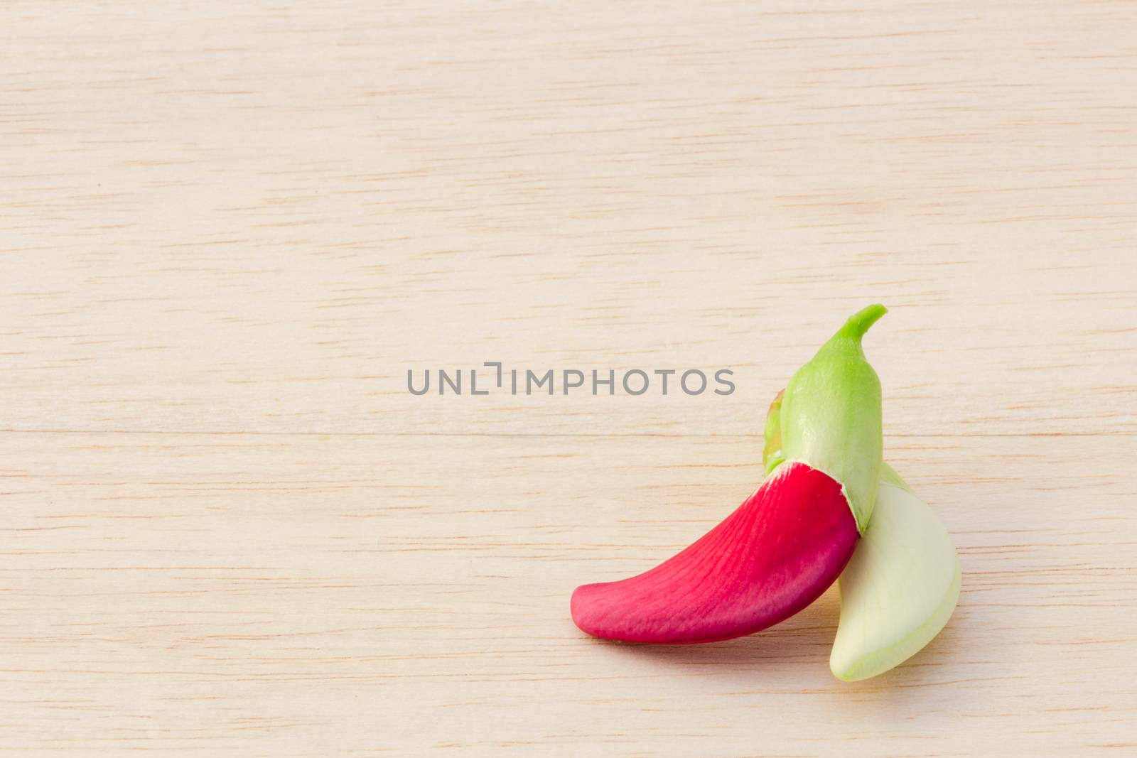
[[[841,485],[804,464],[763,482],[682,552],[638,576],[572,594],[584,632],[628,642],[713,642],[785,620],[818,599],[853,555]]]

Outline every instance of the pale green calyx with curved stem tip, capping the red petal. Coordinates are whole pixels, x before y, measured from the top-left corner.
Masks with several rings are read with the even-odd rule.
[[[877,499],[883,439],[880,380],[865,360],[861,339],[886,313],[873,305],[850,316],[797,369],[766,419],[766,470],[789,460],[832,476],[841,483],[862,534]]]

